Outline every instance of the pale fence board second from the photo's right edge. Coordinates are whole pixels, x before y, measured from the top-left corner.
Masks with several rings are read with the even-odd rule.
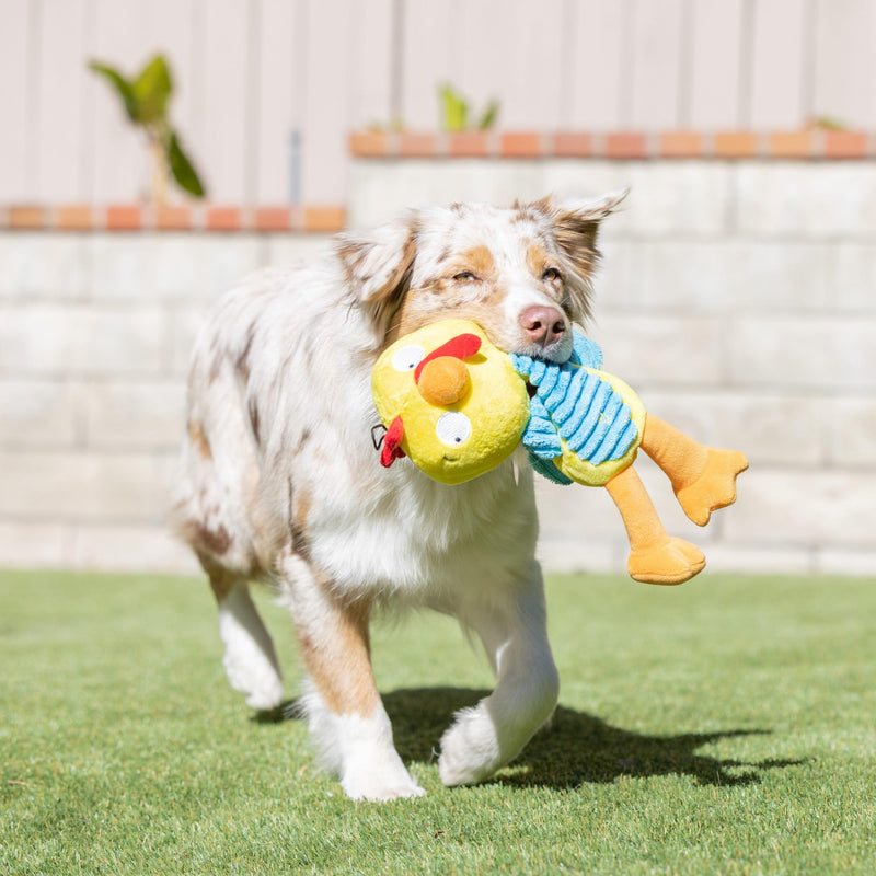
[[[806,0],[758,0],[751,33],[752,128],[796,128],[804,106]]]

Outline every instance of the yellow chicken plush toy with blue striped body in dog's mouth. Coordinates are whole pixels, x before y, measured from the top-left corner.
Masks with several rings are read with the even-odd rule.
[[[562,365],[508,356],[483,330],[446,320],[396,341],[372,373],[387,433],[381,463],[410,456],[436,481],[459,484],[498,465],[522,442],[532,466],[561,483],[604,486],[630,538],[627,569],[648,584],[681,584],[705,566],[699,548],[670,537],[632,468],[641,447],[669,477],[688,517],[705,526],[736,500],[745,456],[699,445],[646,413],[602,354],[575,333]]]

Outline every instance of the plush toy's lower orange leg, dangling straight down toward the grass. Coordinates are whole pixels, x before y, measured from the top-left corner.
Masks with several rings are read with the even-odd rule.
[[[630,577],[647,584],[683,584],[705,567],[695,544],[671,538],[633,466],[606,484],[630,538]]]

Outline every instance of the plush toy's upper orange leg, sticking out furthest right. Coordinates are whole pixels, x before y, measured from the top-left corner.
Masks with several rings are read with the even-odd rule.
[[[704,527],[712,511],[736,502],[736,477],[748,468],[738,450],[703,447],[648,414],[642,449],[666,472],[684,514]]]

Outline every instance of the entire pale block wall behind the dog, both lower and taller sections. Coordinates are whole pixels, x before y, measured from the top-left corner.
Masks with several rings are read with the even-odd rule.
[[[745,450],[713,568],[876,568],[876,164],[357,159],[353,227],[412,205],[631,185],[604,229],[591,335],[660,416]],[[192,337],[249,270],[323,235],[0,232],[0,564],[194,569],[162,528]],[[604,491],[540,484],[552,568],[624,566]]]

